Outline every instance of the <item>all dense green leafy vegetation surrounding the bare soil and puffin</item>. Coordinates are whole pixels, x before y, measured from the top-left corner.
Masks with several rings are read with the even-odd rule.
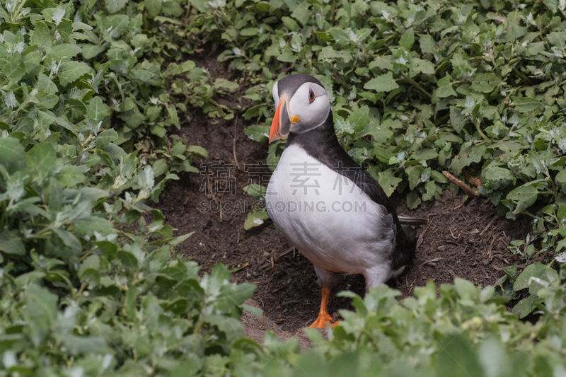
[[[0,21],[1,376],[566,370],[564,1],[0,0]],[[191,61],[204,42],[241,82]],[[292,72],[325,84],[342,144],[388,194],[414,208],[466,169],[499,214],[533,216],[509,252],[547,265],[400,302],[379,287],[305,354],[243,338],[254,286],[222,266],[199,277],[176,255],[190,234],[148,199],[207,156],[168,136],[195,110],[231,119],[214,96],[251,83],[246,133],[265,141]]]

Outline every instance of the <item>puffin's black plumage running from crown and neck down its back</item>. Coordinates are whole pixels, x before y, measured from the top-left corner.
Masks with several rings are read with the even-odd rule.
[[[282,81],[296,76],[299,75],[289,76],[282,79]],[[316,82],[313,81],[316,79],[312,76],[301,76],[311,78],[310,82]],[[301,80],[303,80],[301,84],[306,82],[304,81],[305,79]],[[301,86],[301,84],[299,84],[299,86]],[[299,88],[299,86],[297,86],[297,88]],[[281,86],[279,86],[279,93],[282,93]],[[286,148],[293,144],[301,146],[308,155],[352,180],[371,200],[386,208],[387,212],[393,216],[393,224],[395,227],[395,250],[391,256],[393,260],[391,267],[393,271],[395,271],[400,267],[410,264],[415,258],[417,246],[415,229],[400,224],[395,207],[393,207],[393,203],[391,203],[391,200],[389,200],[381,185],[342,149],[334,130],[332,112],[330,112],[328,118],[320,127],[316,127],[302,134],[289,134]]]

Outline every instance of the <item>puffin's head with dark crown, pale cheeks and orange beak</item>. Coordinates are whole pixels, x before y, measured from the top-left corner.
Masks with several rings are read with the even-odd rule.
[[[330,114],[330,101],[323,85],[308,74],[294,74],[273,84],[277,104],[271,124],[270,143],[289,132],[302,134],[323,124]]]

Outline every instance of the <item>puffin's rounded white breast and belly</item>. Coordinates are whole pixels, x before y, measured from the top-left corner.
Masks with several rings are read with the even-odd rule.
[[[317,267],[365,274],[391,265],[391,214],[301,147],[284,150],[265,199],[279,230]]]

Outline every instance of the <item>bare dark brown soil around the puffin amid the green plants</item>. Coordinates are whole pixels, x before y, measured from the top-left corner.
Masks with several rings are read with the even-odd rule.
[[[216,77],[232,79],[232,74],[214,57],[195,62],[204,66],[210,62],[209,70],[214,70]],[[291,248],[272,221],[267,220],[250,231],[243,228],[254,199],[242,189],[250,182],[259,182],[258,177],[243,170],[265,163],[267,157],[267,144],[252,141],[244,134],[243,129],[250,124],[242,117],[235,126],[233,120],[211,120],[199,112],[192,116],[180,133],[189,144],[207,149],[209,158],[200,163],[214,164],[209,169],[215,173],[208,182],[203,174],[181,174],[180,180],[168,182],[155,207],[163,211],[168,224],[176,229],[175,235],[195,231],[182,244],[182,253],[197,261],[203,271],[224,263],[238,269],[233,273],[234,282],[258,285],[253,301],[264,310],[265,318],[258,321],[250,315],[244,316],[248,336],[261,340],[266,329],[275,330],[282,338],[303,336],[299,329],[316,318],[320,304],[320,290],[311,262]],[[236,156],[242,170],[233,165],[235,130]],[[216,180],[221,173],[226,178]],[[230,182],[232,186],[222,182]],[[267,185],[267,181],[261,183]],[[524,238],[529,233],[529,219],[499,219],[489,199],[463,203],[463,195],[454,197],[451,192],[445,192],[439,200],[425,202],[415,211],[406,209],[404,197],[393,195],[392,199],[400,214],[429,219],[427,226],[417,230],[419,246],[414,264],[407,273],[389,282],[403,296],[412,294],[415,286],[424,286],[429,280],[438,285],[461,277],[474,284],[494,284],[504,274],[502,267],[521,263],[510,255],[507,245],[510,240]],[[335,296],[345,289],[363,295],[363,277],[348,276],[335,286],[330,313],[350,308],[349,299]],[[308,341],[300,342],[308,347]]]

